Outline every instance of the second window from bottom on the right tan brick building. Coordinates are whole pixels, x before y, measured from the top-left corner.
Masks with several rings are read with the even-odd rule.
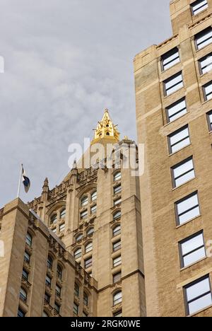
[[[182,240],[179,243],[179,250],[182,268],[192,265],[192,263],[206,257],[203,231]]]

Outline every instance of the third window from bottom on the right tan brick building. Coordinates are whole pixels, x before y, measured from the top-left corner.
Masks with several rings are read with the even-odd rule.
[[[177,225],[181,225],[200,215],[198,193],[194,192],[176,202]]]

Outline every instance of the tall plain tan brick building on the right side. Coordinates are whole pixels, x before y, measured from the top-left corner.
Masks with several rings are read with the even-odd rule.
[[[136,55],[148,316],[212,316],[212,0],[170,3],[173,35]]]

